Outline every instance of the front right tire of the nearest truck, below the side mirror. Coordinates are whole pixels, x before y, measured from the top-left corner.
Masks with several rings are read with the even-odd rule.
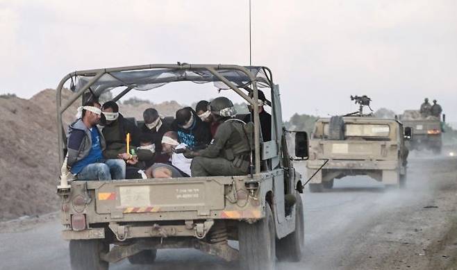
[[[295,204],[295,230],[290,235],[279,239],[276,242],[276,257],[280,261],[299,262],[304,253],[304,214],[303,202],[300,194],[296,194],[297,203]]]

